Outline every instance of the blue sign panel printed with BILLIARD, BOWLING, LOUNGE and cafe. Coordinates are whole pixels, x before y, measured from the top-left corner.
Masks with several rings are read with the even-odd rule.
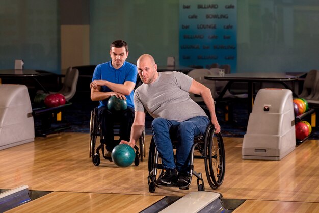
[[[179,64],[237,68],[237,1],[179,1]]]

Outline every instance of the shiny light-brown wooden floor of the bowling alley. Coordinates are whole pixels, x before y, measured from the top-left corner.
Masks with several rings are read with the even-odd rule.
[[[149,147],[150,136],[146,136]],[[319,212],[319,141],[308,140],[281,161],[243,160],[242,138],[224,138],[226,175],[222,186],[206,191],[246,199],[234,212]],[[119,168],[89,158],[89,134],[62,133],[0,151],[0,189],[28,185],[53,191],[8,212],[139,212],[165,196],[197,191],[156,188],[148,191],[147,159]],[[205,174],[204,163],[195,170]]]

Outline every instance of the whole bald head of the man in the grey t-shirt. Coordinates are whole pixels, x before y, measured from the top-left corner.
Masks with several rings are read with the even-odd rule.
[[[138,73],[144,84],[152,84],[158,77],[157,64],[149,54],[143,54],[137,61]]]

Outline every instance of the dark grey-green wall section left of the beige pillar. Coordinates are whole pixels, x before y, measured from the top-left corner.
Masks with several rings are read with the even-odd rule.
[[[0,0],[0,69],[60,73],[60,13],[58,0]]]

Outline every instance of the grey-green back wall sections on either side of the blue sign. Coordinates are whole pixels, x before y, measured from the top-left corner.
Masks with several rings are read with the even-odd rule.
[[[89,7],[91,64],[110,60],[116,39],[128,42],[128,61],[148,52],[159,65],[167,56],[178,64],[178,0],[91,0]],[[319,1],[240,0],[237,9],[237,72],[319,69]],[[60,73],[60,18],[58,0],[0,0],[0,69],[21,58],[25,68]]]

